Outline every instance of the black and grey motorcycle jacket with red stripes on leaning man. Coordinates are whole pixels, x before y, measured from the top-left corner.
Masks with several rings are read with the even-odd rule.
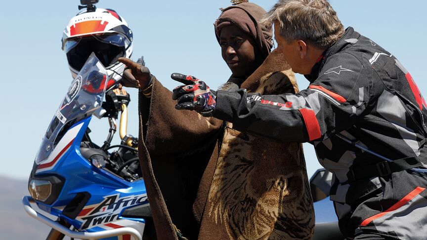
[[[298,94],[218,91],[214,117],[276,141],[314,144],[335,176],[330,198],[340,219],[354,217],[391,172],[427,166],[427,104],[392,54],[350,27],[305,77],[310,85]],[[388,165],[384,159],[400,161]],[[349,228],[376,211],[362,210]]]

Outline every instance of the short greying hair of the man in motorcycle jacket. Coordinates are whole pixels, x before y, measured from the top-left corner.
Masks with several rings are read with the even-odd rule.
[[[321,49],[332,46],[344,33],[328,0],[279,0],[262,24],[276,21],[280,24],[280,35],[288,42],[304,40]]]

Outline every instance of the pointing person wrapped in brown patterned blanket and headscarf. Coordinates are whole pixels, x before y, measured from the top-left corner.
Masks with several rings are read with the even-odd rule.
[[[257,23],[263,14],[243,2],[216,20],[228,82],[261,94],[295,93],[289,65],[270,54],[271,26]],[[175,111],[171,91],[147,68],[119,61],[129,67],[125,85],[141,92],[140,161],[159,238],[176,239],[176,228],[191,239],[311,238],[314,212],[300,144],[268,142],[228,122]]]

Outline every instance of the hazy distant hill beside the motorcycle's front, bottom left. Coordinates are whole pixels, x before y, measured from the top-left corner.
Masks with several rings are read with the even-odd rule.
[[[0,240],[44,240],[50,228],[30,217],[22,206],[27,181],[0,176]]]

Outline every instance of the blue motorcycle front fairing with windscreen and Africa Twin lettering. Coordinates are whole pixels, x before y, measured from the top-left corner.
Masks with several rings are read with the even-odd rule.
[[[131,207],[148,205],[144,181],[129,182],[105,168],[97,168],[80,152],[91,115],[102,104],[106,79],[105,68],[92,54],[73,80],[43,136],[30,181],[49,176],[63,179],[56,199],[49,204],[43,201],[36,201],[36,204],[80,231],[131,227],[142,233],[144,219],[122,218],[122,213]],[[75,216],[66,214],[79,194],[85,194],[87,201],[71,206]],[[130,236],[125,235],[109,239],[128,238]]]

